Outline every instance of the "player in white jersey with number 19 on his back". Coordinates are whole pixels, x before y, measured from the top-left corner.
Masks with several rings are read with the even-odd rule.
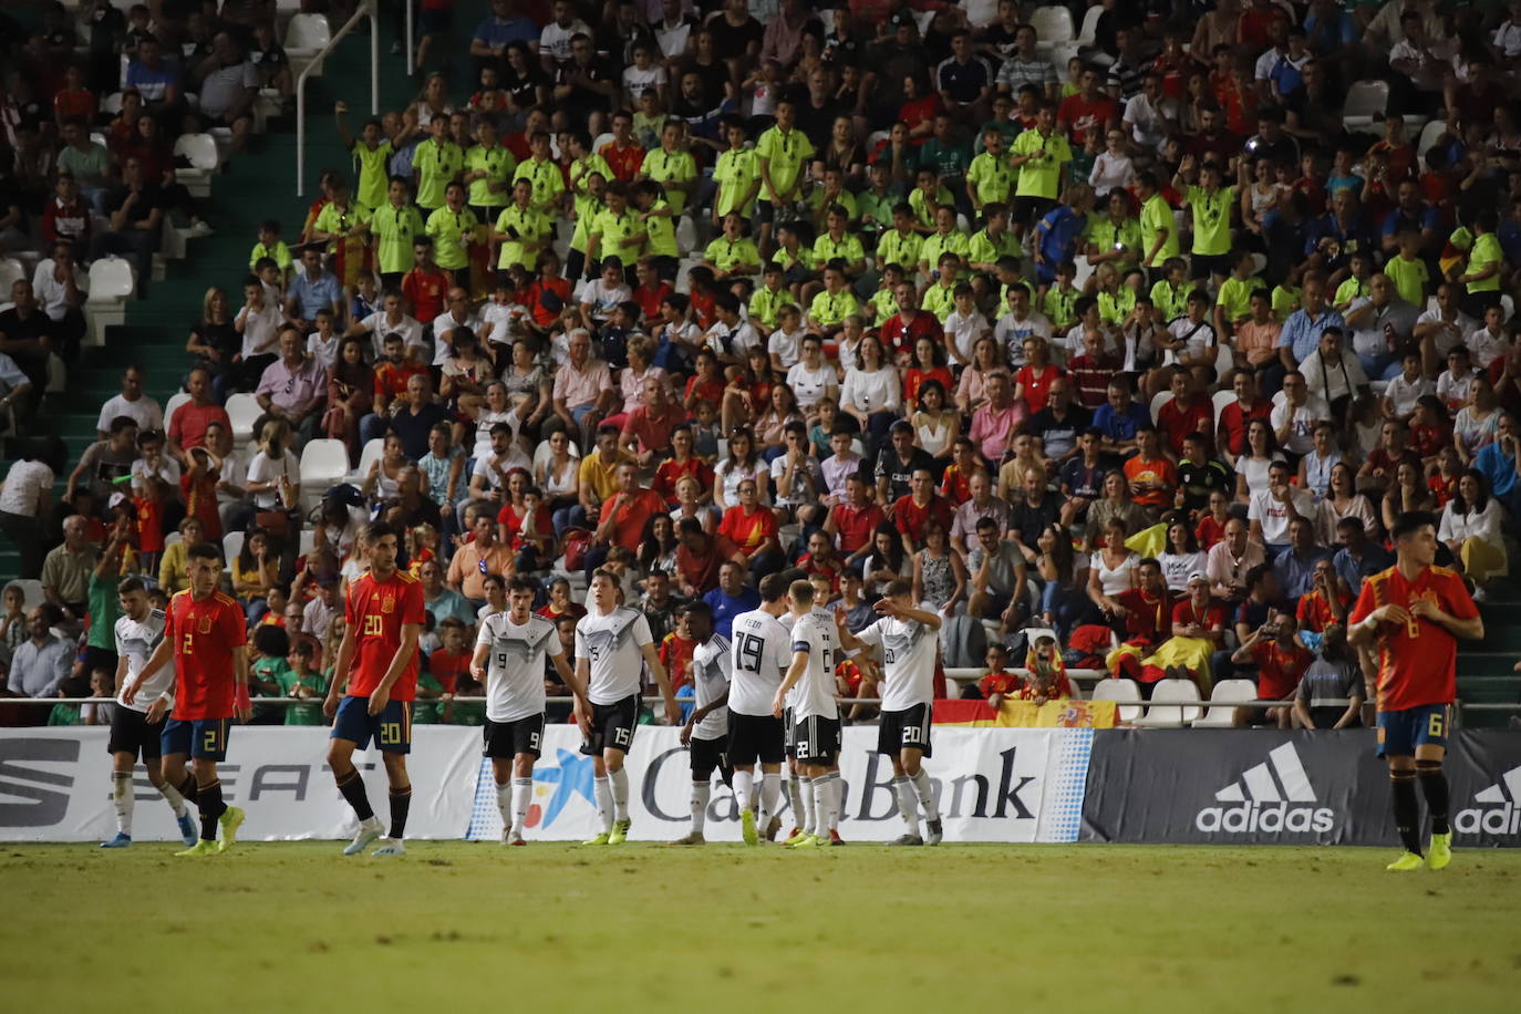
[[[788,736],[786,719],[771,715],[771,701],[792,663],[792,634],[777,622],[786,613],[786,585],[785,573],[762,578],[760,608],[741,613],[730,628],[729,763],[735,769],[735,798],[747,845],[759,844],[757,827],[774,838],[780,825],[777,809]],[[756,762],[760,763],[759,821],[750,806]],[[794,806],[802,813],[802,801]]]

